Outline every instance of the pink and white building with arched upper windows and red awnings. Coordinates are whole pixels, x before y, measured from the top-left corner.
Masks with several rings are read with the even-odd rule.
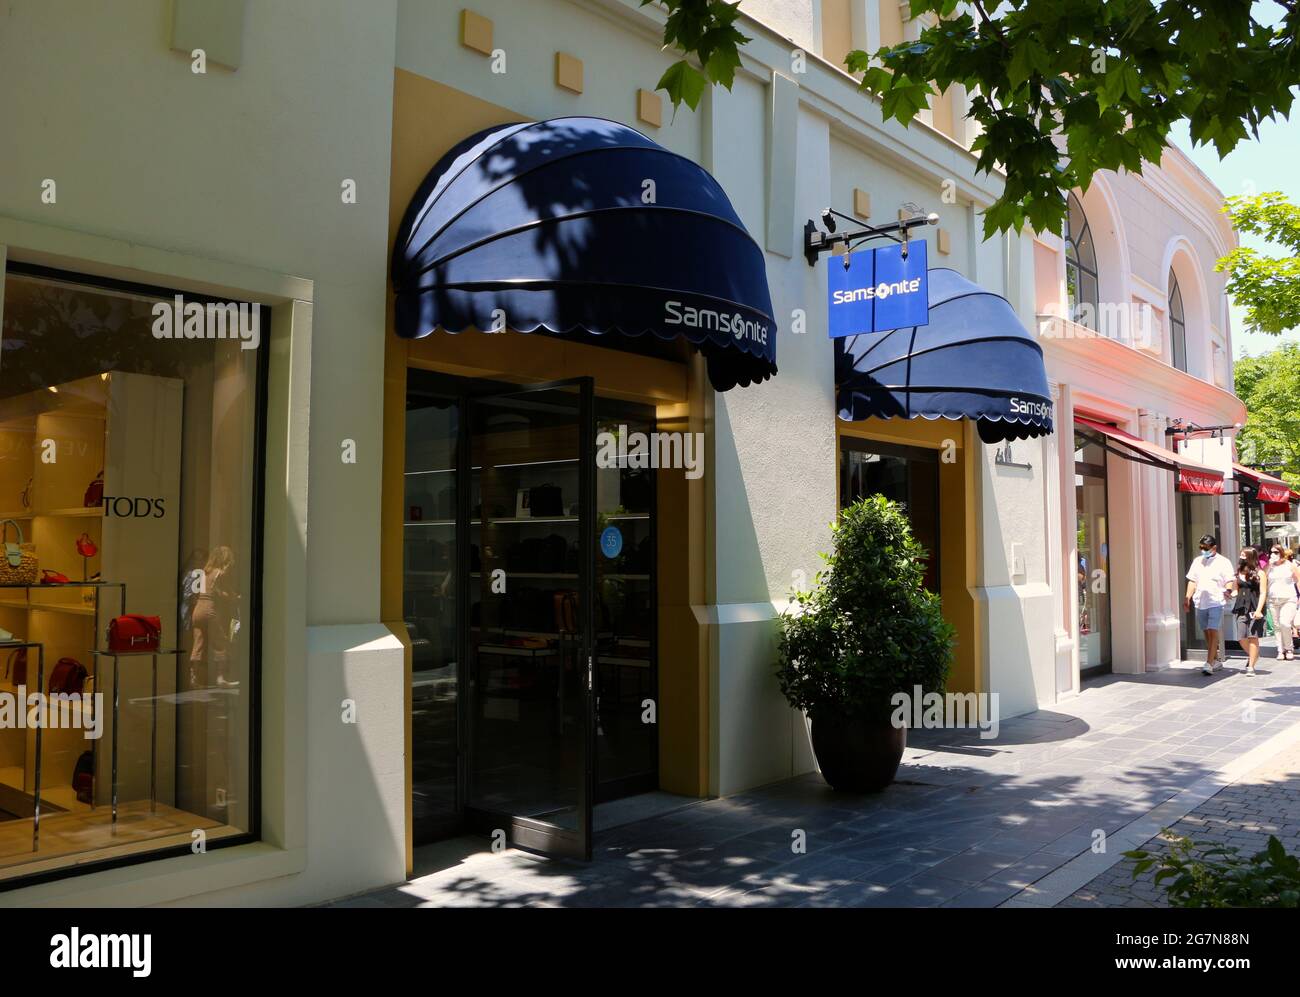
[[[1236,554],[1232,426],[1245,421],[1214,272],[1236,243],[1222,201],[1169,149],[1143,175],[1098,174],[1070,195],[1062,235],[1034,243],[1057,406],[1048,490],[1058,697],[1080,676],[1166,668],[1199,649],[1204,658],[1183,576],[1201,533]]]

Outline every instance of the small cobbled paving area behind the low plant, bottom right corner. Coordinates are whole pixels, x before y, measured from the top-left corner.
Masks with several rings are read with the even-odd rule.
[[[1240,781],[1178,820],[1171,831],[1199,845],[1236,848],[1243,858],[1262,851],[1274,835],[1292,855],[1300,855],[1300,744],[1279,751],[1248,772]],[[1164,851],[1154,837],[1148,851]],[[1136,880],[1134,862],[1123,859],[1092,883],[1076,890],[1062,907],[1167,907],[1165,890],[1156,885],[1156,871]]]

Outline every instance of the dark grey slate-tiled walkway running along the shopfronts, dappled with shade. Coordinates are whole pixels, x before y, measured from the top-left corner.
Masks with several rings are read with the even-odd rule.
[[[1239,667],[1106,676],[996,740],[911,732],[883,793],[803,776],[701,801],[598,833],[590,864],[456,838],[419,849],[412,881],[338,905],[1050,906],[1213,796],[1221,770],[1300,734],[1300,664]]]

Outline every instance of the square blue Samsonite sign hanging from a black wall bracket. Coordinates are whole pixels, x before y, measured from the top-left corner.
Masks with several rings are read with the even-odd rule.
[[[858,250],[826,261],[827,315],[831,338],[883,333],[930,322],[930,276],[926,243]]]

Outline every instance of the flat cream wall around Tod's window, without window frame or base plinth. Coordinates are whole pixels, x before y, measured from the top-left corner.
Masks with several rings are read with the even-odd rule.
[[[0,18],[0,91],[10,95],[0,101],[0,214],[315,282],[313,377],[332,403],[312,413],[320,542],[302,584],[312,623],[378,619],[378,563],[356,551],[380,536],[373,399],[395,3],[248,4],[243,65],[205,75],[169,51],[169,3],[18,0]],[[47,177],[55,204],[40,201]],[[358,204],[342,203],[344,178]],[[355,465],[337,456],[344,438],[358,443]]]

